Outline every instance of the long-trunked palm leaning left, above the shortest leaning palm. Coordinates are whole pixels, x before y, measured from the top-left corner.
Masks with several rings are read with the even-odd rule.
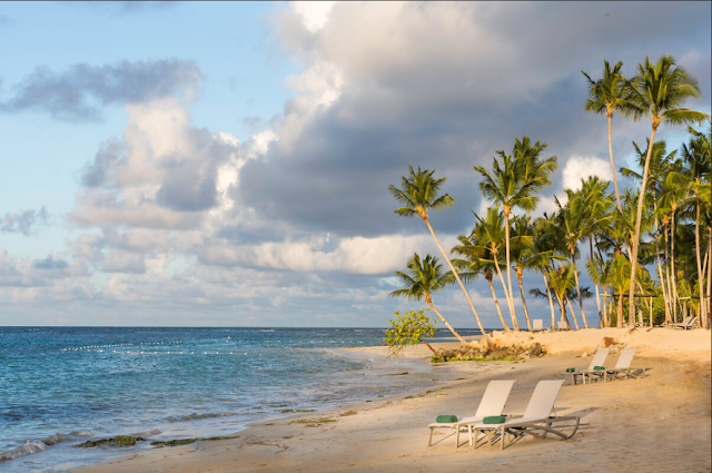
[[[482,332],[483,338],[487,343],[490,343],[490,336],[485,333],[485,328],[482,326],[482,322],[479,321],[477,311],[475,311],[475,306],[472,304],[472,300],[469,299],[469,295],[467,294],[467,289],[465,289],[465,285],[459,279],[459,276],[457,276],[457,272],[455,270],[455,267],[453,266],[449,258],[447,257],[447,253],[445,253],[443,245],[441,245],[441,242],[437,239],[437,236],[435,236],[435,231],[431,226],[428,210],[442,210],[455,204],[455,199],[448,196],[447,194],[439,197],[437,195],[441,186],[443,185],[443,183],[445,183],[447,178],[442,177],[439,179],[435,179],[433,177],[435,169],[421,170],[419,166],[418,166],[417,173],[413,169],[413,166],[408,166],[408,169],[411,171],[411,176],[402,177],[403,189],[398,189],[393,185],[388,186],[388,190],[390,190],[390,194],[393,194],[396,200],[403,206],[397,210],[395,210],[394,214],[397,214],[400,217],[405,217],[405,218],[418,217],[423,221],[425,221],[425,225],[427,225],[428,230],[431,230],[431,235],[433,235],[433,239],[435,239],[437,247],[443,253],[443,256],[445,257],[445,260],[447,262],[447,265],[449,266],[451,272],[455,276],[455,279],[459,285],[459,288],[465,295],[465,298],[469,304],[469,308],[472,309],[472,313],[475,315],[475,319],[477,321],[477,325],[479,326],[479,332]]]

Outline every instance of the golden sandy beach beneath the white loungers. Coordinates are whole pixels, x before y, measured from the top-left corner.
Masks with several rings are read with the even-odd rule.
[[[456,449],[454,434],[439,431],[434,445],[427,446],[427,425],[438,414],[473,414],[491,380],[516,380],[505,413],[522,414],[538,381],[562,378],[561,373],[570,366],[585,368],[591,358],[582,355],[593,353],[603,337],[636,347],[633,366],[647,368],[647,375],[576,386],[566,383],[555,411],[557,415],[581,416],[573,438],[526,436],[504,451],[498,446],[473,451],[466,443]],[[548,354],[520,362],[451,362],[434,367],[434,373],[453,371],[454,381],[415,395],[254,424],[238,438],[144,451],[75,471],[711,471],[709,331],[496,333],[494,339],[500,344],[538,342]],[[383,354],[383,347],[347,349]],[[405,356],[425,362],[429,352],[418,346]],[[611,355],[606,365],[616,358]]]

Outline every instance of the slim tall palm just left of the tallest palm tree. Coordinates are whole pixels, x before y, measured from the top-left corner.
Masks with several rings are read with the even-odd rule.
[[[613,185],[615,186],[615,199],[619,211],[623,211],[621,206],[621,194],[619,191],[619,180],[615,175],[615,165],[613,162],[613,147],[611,146],[611,119],[614,112],[624,116],[634,112],[630,105],[630,92],[626,87],[625,78],[621,75],[623,61],[617,61],[611,69],[609,61],[603,60],[603,78],[594,81],[591,77],[581,71],[589,82],[589,100],[586,100],[586,111],[605,115],[609,118],[609,156],[611,157],[611,173],[613,174]]]

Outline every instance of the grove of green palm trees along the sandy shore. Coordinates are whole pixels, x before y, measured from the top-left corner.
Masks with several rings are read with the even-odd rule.
[[[551,185],[557,170],[557,158],[545,156],[544,141],[534,142],[527,136],[515,138],[512,151],[495,151],[490,167],[474,166],[478,188],[488,206],[479,214],[473,211],[474,226],[468,235],[457,236],[449,258],[427,214],[429,209],[455,203],[447,194],[439,196],[445,177],[436,179],[434,170],[409,167],[400,189],[389,186],[403,206],[395,213],[417,216],[427,224],[451,269],[443,277],[458,283],[481,331],[479,317],[464,285],[484,276],[503,329],[520,331],[512,273],[518,282],[521,307],[530,331],[533,327],[523,282],[536,273],[544,286],[530,290],[528,295],[548,302],[552,329],[655,326],[682,322],[690,315],[698,316],[700,327],[710,327],[712,124],[709,115],[684,108],[689,99],[701,96],[698,81],[671,56],[656,61],[645,58],[627,78],[623,75],[623,62],[604,60],[603,66],[600,79],[582,71],[587,86],[584,109],[607,118],[612,181],[584,177],[576,188],[566,188],[554,196],[553,213],[532,219],[541,193]],[[611,131],[614,115],[633,120],[647,117],[651,122],[645,141],[635,137],[627,141],[632,149],[620,151],[635,157],[630,168],[619,168],[614,161]],[[702,124],[706,126],[693,127]],[[680,149],[670,149],[664,140],[656,141],[662,125],[686,126],[686,142]],[[644,147],[639,146],[642,142]],[[621,183],[626,187],[620,187],[619,174],[625,177]],[[429,255],[428,258],[431,265],[437,264]],[[417,269],[417,262],[412,258],[408,268]],[[425,269],[423,262],[419,267]],[[585,275],[593,292],[582,285],[581,277]],[[407,287],[398,295],[426,300],[423,295],[415,297],[415,293],[408,293],[416,282],[413,273],[409,277],[413,284],[406,283]],[[500,285],[510,313],[507,321],[497,298]],[[597,324],[584,307],[584,299],[591,297],[596,300]],[[459,353],[434,354],[434,363],[492,359],[493,347],[465,346],[462,337],[457,337],[463,343]],[[487,345],[493,344],[486,334],[484,338]]]

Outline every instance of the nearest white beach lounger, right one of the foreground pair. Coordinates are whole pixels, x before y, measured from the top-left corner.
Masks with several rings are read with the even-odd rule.
[[[534,388],[530,404],[526,406],[526,411],[522,417],[510,418],[503,424],[478,423],[471,425],[469,428],[474,432],[474,440],[472,441],[473,449],[477,447],[477,435],[479,432],[486,435],[486,440],[490,445],[493,444],[496,440],[496,435],[498,434],[501,441],[500,447],[502,450],[505,447],[504,443],[507,435],[510,437],[514,436],[515,440],[524,435],[544,438],[547,434],[554,434],[563,440],[568,440],[574,436],[581,422],[578,416],[551,416],[551,413],[554,410],[554,403],[556,402],[556,396],[558,396],[558,391],[563,384],[564,380],[540,381]],[[573,432],[571,434],[565,434],[561,431],[561,428],[572,427],[571,425],[557,425],[571,422],[574,423]],[[554,428],[555,426],[556,428]],[[510,441],[510,444],[512,443],[513,441]]]

